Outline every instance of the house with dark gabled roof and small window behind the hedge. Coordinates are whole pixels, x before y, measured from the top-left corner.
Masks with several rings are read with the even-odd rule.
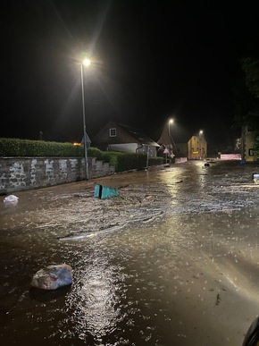
[[[137,129],[119,122],[107,122],[92,138],[92,146],[103,151],[121,151],[124,153],[142,153],[156,157],[160,147],[153,139]]]

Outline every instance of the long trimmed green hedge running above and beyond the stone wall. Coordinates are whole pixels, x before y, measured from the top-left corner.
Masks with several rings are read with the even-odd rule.
[[[44,140],[4,139],[0,138],[0,157],[83,157],[84,148],[71,143],[47,142]],[[98,148],[88,148],[88,156],[96,157],[115,166],[116,172],[132,169],[141,170],[146,167],[146,155],[127,154],[113,151],[101,151]],[[163,157],[150,157],[148,165],[163,165]]]

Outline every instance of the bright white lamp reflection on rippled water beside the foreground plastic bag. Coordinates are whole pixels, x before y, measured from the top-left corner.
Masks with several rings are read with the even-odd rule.
[[[66,300],[66,312],[72,316],[73,331],[87,340],[90,333],[98,342],[113,332],[120,319],[121,275],[107,257],[93,257],[76,270],[75,283]]]

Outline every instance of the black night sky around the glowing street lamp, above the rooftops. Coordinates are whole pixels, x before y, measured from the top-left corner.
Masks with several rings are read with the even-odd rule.
[[[33,0],[1,4],[0,137],[80,141],[79,57],[91,138],[109,120],[158,140],[173,117],[174,141],[203,130],[230,145],[232,87],[240,57],[258,46],[258,15],[246,3]]]

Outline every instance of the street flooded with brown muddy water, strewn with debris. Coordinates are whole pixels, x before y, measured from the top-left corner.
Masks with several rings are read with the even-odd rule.
[[[259,315],[259,168],[203,164],[0,197],[1,342],[241,346]],[[71,286],[30,287],[60,263]]]

